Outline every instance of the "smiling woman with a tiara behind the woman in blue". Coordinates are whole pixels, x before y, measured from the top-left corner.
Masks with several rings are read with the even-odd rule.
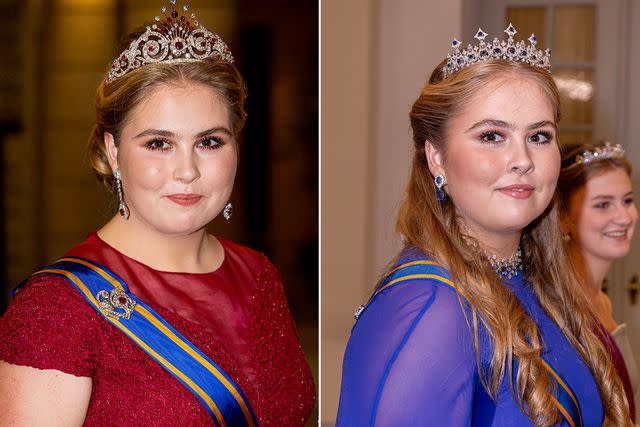
[[[602,285],[611,263],[631,249],[638,211],[631,186],[631,165],[620,144],[570,144],[563,147],[558,180],[562,232],[582,289],[598,320],[600,338],[610,350],[622,379],[631,416],[640,393],[640,377],[627,327],[613,318]]]

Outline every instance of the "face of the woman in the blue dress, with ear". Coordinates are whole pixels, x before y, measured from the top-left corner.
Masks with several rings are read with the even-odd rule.
[[[477,91],[443,147],[425,144],[431,173],[445,176],[463,226],[489,248],[519,238],[549,205],[560,170],[554,110],[530,77],[513,73]]]

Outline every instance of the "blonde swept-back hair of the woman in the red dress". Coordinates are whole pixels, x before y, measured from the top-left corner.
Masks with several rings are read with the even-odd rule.
[[[130,34],[119,51],[129,46],[142,32]],[[236,67],[226,61],[205,59],[197,62],[147,64],[107,84],[100,83],[96,93],[96,122],[89,137],[89,161],[99,181],[113,190],[113,171],[107,161],[104,134],[113,135],[116,145],[131,112],[159,85],[196,83],[208,86],[226,103],[231,131],[235,138],[242,132],[247,117],[244,80]]]

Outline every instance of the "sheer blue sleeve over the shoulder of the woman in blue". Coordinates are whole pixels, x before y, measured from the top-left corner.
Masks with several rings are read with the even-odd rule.
[[[474,399],[478,406],[483,398],[477,390],[484,390],[477,372],[465,308],[454,289],[429,280],[390,287],[352,331],[337,425],[482,425],[473,414]]]

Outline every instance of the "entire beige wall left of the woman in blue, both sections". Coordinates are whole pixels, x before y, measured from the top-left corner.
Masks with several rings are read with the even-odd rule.
[[[353,311],[397,250],[408,112],[460,35],[463,0],[322,1],[321,421],[335,422]]]

